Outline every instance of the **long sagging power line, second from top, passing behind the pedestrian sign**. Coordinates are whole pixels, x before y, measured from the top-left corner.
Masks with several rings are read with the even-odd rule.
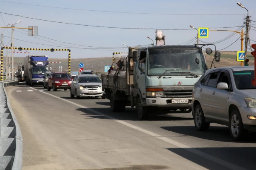
[[[5,13],[5,12],[0,12],[0,13],[7,14],[7,15],[12,15],[12,16],[18,16],[18,17],[22,17],[22,18],[36,19],[36,20],[41,20],[41,21],[55,22],[55,23],[68,24],[68,25],[92,26],[92,27],[99,27],[99,28],[115,28],[115,29],[140,29],[140,30],[154,29],[154,30],[156,30],[156,28],[126,28],[126,27],[115,27],[115,26],[97,26],[97,25],[74,24],[74,23],[67,23],[67,22],[51,21],[51,20],[46,20],[46,19],[24,17],[24,16],[16,15],[16,14],[8,14],[8,13]],[[241,26],[213,27],[213,28],[217,29],[217,28],[236,28],[236,27],[241,27]],[[210,28],[210,29],[213,29],[213,28]],[[192,30],[192,29],[162,29],[162,30]]]

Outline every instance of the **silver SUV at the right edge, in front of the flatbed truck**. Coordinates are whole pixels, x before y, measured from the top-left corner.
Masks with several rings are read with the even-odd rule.
[[[234,140],[256,129],[254,67],[220,67],[207,70],[192,93],[192,114],[198,131],[210,123],[227,125]]]

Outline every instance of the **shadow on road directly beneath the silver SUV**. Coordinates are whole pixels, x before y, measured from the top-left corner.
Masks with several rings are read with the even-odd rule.
[[[222,142],[237,142],[231,138],[228,127],[210,126],[209,130],[206,132],[199,132],[196,130],[194,126],[173,126],[173,127],[169,126],[169,127],[161,127],[161,128],[174,133],[183,134],[187,136],[194,136],[200,139],[222,141]],[[254,133],[248,134],[245,136],[244,140],[240,142],[255,143],[256,135]]]

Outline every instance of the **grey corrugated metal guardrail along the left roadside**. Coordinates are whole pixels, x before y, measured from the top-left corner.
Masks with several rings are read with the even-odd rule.
[[[16,81],[0,83],[0,170],[22,170],[22,133],[4,87]]]

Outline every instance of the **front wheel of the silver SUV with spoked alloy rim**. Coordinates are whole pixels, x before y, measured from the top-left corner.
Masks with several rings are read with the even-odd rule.
[[[244,126],[242,117],[238,110],[232,110],[229,117],[229,132],[235,141],[242,139],[244,135]]]

